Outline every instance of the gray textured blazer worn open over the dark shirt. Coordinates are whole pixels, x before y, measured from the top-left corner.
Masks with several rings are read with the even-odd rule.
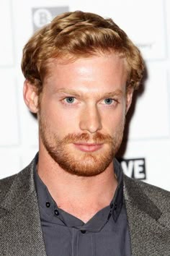
[[[33,164],[0,181],[0,256],[46,256]],[[132,255],[170,256],[170,192],[124,176],[124,198]]]

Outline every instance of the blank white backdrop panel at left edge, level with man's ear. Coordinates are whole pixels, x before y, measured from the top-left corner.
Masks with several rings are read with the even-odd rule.
[[[16,77],[12,70],[0,69],[0,147],[19,145],[19,109]]]

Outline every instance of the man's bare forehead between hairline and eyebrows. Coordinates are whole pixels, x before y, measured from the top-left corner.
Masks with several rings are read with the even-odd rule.
[[[44,86],[48,90],[69,88],[84,92],[120,89],[126,84],[126,61],[118,54],[99,54],[73,61],[53,59]],[[113,88],[113,89],[114,89]]]

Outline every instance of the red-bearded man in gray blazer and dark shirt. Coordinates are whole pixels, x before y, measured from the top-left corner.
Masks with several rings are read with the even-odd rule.
[[[61,14],[23,51],[39,153],[1,180],[1,255],[168,256],[170,194],[122,174],[115,154],[143,74],[112,20]]]

